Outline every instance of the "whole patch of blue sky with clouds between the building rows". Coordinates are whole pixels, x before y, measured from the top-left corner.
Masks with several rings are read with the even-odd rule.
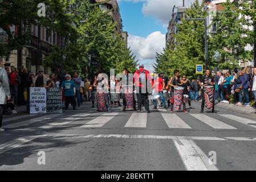
[[[195,0],[185,0],[190,6]],[[201,1],[201,0],[200,0]],[[156,52],[165,47],[165,34],[173,6],[182,6],[182,0],[117,0],[123,30],[128,32],[128,47],[139,63],[153,72]]]

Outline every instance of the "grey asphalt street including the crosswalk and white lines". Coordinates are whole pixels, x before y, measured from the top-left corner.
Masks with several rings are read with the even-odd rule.
[[[201,102],[188,113],[152,105],[151,113],[117,106],[99,113],[84,104],[4,118],[0,170],[256,170],[255,115],[218,106],[200,114]]]

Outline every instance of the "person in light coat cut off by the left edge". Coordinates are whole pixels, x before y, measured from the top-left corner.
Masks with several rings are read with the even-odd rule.
[[[2,129],[3,122],[3,109],[6,105],[7,100],[10,100],[11,93],[9,88],[8,75],[3,68],[2,57],[0,57],[0,131],[5,131]]]

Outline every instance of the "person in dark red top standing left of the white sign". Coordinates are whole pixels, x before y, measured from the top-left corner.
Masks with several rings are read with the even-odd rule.
[[[14,104],[17,105],[17,99],[18,99],[18,73],[15,71],[15,67],[14,66],[11,66],[10,91],[11,91],[11,97],[14,97]]]

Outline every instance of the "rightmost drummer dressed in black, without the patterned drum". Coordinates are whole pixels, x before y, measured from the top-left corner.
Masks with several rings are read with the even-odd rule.
[[[204,86],[214,86],[215,82],[212,76],[210,76],[210,70],[206,70],[206,75],[203,76],[200,79],[200,86],[202,86],[201,89],[201,97],[202,97],[202,104],[201,104],[201,111],[200,113],[204,113],[204,107],[205,107],[205,93],[204,93]],[[213,92],[214,94],[214,92]],[[214,97],[214,96],[213,96]],[[212,113],[214,113],[214,98],[213,98],[213,107],[212,107]]]

